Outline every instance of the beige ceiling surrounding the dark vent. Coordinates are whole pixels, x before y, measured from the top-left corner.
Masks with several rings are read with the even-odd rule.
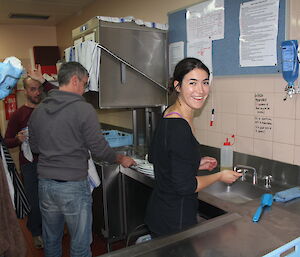
[[[94,0],[0,0],[0,25],[55,26]],[[9,18],[11,14],[49,16],[48,19]]]

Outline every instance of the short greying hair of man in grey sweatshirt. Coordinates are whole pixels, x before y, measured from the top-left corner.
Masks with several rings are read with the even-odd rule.
[[[89,76],[89,73],[79,62],[66,62],[62,64],[57,76],[59,87],[68,84],[74,75],[82,80],[85,76]]]

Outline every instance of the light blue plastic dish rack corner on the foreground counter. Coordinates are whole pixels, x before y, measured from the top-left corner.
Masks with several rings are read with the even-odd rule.
[[[282,255],[283,254],[283,255]],[[300,256],[300,237],[275,249],[262,257],[299,257]]]

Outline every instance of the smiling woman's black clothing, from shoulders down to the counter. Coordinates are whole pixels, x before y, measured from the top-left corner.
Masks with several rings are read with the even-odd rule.
[[[151,232],[167,235],[197,223],[199,143],[188,122],[162,118],[149,152],[154,165],[155,187],[149,199],[145,223]]]

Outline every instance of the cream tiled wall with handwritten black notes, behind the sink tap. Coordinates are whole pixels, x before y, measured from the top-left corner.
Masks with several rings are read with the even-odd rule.
[[[287,2],[287,39],[300,42],[300,0]],[[221,147],[226,137],[235,134],[237,152],[300,165],[300,94],[284,101],[285,86],[281,74],[215,77],[201,114],[204,118],[195,121],[197,138]],[[264,113],[257,113],[256,94],[266,99]],[[210,127],[212,106],[215,122]],[[267,121],[268,129],[258,132],[258,120]]]

